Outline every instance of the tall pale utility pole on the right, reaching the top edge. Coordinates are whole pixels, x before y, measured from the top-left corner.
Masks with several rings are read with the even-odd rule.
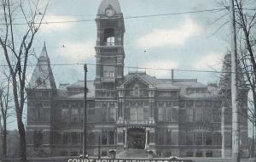
[[[237,47],[236,18],[234,0],[230,0],[231,27],[231,98],[232,98],[232,161],[239,162],[239,123],[238,123],[238,79],[237,79]]]

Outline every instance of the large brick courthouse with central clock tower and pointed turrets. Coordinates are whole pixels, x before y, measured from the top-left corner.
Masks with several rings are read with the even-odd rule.
[[[223,150],[230,156],[229,54],[218,85],[173,76],[158,79],[140,71],[124,74],[125,22],[118,0],[102,0],[96,26],[96,77],[87,81],[90,156],[99,152],[108,156],[110,149],[117,154],[150,149],[159,157],[220,157]],[[79,155],[84,81],[57,87],[48,54],[44,45],[27,88],[28,154]],[[243,152],[247,148],[247,88],[240,87],[240,94]]]

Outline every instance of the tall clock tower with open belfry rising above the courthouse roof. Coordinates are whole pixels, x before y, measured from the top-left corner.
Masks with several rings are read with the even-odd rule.
[[[102,0],[96,25],[96,90],[113,90],[124,77],[125,24],[118,0]]]

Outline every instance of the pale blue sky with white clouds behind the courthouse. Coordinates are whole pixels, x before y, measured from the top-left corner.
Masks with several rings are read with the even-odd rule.
[[[50,0],[33,48],[40,55],[46,43],[51,64],[95,64],[97,8],[102,0]],[[119,0],[124,17],[195,12],[224,8],[223,0]],[[46,2],[46,1],[44,1]],[[197,14],[176,14],[125,19],[125,66],[221,70],[224,54],[230,48],[227,10]],[[67,23],[67,21],[90,20]],[[19,21],[19,20],[18,20]],[[50,23],[66,22],[66,23]],[[19,27],[19,26],[18,26]],[[36,64],[36,59],[32,59]],[[28,80],[34,67],[28,70]],[[52,65],[55,82],[83,80],[83,65]],[[125,68],[125,74],[137,69]],[[88,79],[95,79],[95,66],[88,66]],[[171,78],[169,70],[147,70],[157,78]],[[217,82],[218,75],[206,72],[175,71],[175,78]],[[15,128],[11,123],[9,128]]]

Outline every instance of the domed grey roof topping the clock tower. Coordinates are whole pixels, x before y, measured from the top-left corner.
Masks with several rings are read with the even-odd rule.
[[[114,14],[122,14],[119,0],[102,0],[98,8],[98,14],[105,14],[107,8],[112,8]]]

